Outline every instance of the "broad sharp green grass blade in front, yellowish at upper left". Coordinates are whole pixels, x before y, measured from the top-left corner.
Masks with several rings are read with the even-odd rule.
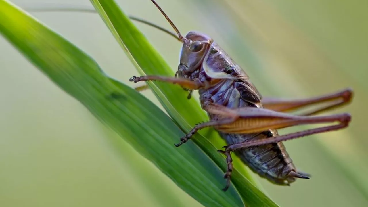
[[[234,188],[221,191],[223,172],[195,144],[173,146],[184,133],[170,117],[137,91],[106,77],[76,46],[4,0],[0,0],[0,33],[201,204],[243,206]]]

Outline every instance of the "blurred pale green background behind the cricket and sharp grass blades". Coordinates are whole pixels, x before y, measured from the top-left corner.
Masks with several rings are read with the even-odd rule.
[[[13,0],[91,6],[88,0]],[[117,0],[170,28],[149,0]],[[348,129],[285,145],[312,174],[291,187],[259,178],[280,206],[367,206],[368,1],[158,0],[181,32],[212,36],[263,96],[311,97],[352,87]],[[124,83],[136,75],[99,15],[32,13]],[[173,70],[180,42],[137,23]],[[0,38],[1,206],[201,206]],[[132,85],[132,84],[131,84]],[[150,91],[144,92],[158,103]],[[195,97],[198,94],[195,93]],[[296,128],[302,129],[302,127]],[[294,129],[294,130],[296,130]],[[281,133],[291,131],[282,130]],[[164,201],[166,200],[166,201]]]

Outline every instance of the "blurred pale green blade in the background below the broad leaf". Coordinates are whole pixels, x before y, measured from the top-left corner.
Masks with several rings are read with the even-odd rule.
[[[93,126],[92,126],[93,127]],[[100,124],[96,124],[96,127],[102,131],[102,135],[106,137],[106,143],[110,146],[109,150],[116,154],[119,161],[124,163],[124,170],[127,173],[134,174],[133,180],[138,185],[139,194],[145,198],[152,206],[177,206],[185,207],[190,204],[196,207],[202,207],[202,204],[192,199],[188,201],[187,196],[183,193],[173,192],[176,189],[170,187],[170,183],[163,179],[161,175],[158,175],[156,166],[151,166],[142,156],[137,156],[137,151],[128,144],[126,141],[121,140],[120,136],[115,131],[110,130],[107,127],[101,127]],[[159,170],[159,169],[158,169]],[[126,196],[124,196],[125,199]],[[131,198],[132,201],[139,196]],[[184,198],[183,198],[184,197]],[[128,198],[127,198],[128,199]],[[131,202],[133,204],[134,202]],[[135,205],[138,205],[134,203]],[[127,205],[129,203],[127,202]]]

